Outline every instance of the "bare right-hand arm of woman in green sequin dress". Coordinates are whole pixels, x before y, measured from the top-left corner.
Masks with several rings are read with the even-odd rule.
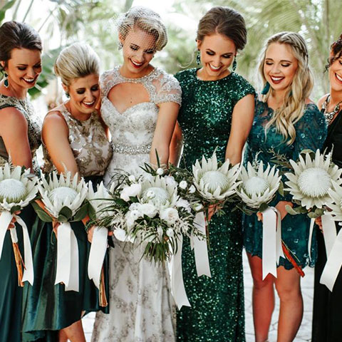
[[[242,160],[242,150],[252,128],[254,118],[254,95],[244,96],[234,106],[232,127],[226,149],[226,159],[235,165]]]

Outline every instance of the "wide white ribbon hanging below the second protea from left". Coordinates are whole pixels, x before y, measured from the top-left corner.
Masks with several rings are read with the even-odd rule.
[[[55,285],[61,282],[66,291],[79,291],[78,244],[69,222],[58,226]]]

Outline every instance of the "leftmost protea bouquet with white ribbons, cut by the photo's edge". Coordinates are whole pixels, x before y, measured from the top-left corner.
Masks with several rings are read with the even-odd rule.
[[[29,170],[24,170],[20,166],[13,167],[9,163],[6,163],[4,167],[0,167],[0,258],[7,229],[12,219],[15,218],[16,222],[23,229],[24,237],[23,261],[19,251],[16,227],[9,228],[18,271],[19,286],[24,286],[24,281],[28,281],[31,285],[33,284],[33,259],[28,229],[23,219],[16,215],[16,212],[30,204],[35,199],[37,192],[37,178],[31,175]]]

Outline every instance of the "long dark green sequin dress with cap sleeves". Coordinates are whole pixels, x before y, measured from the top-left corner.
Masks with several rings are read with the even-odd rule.
[[[178,120],[184,137],[187,167],[202,155],[224,162],[234,105],[254,88],[237,73],[218,81],[200,81],[196,69],[177,73],[182,87]],[[184,165],[183,165],[184,166]],[[197,276],[195,258],[185,241],[183,277],[191,307],[177,313],[177,341],[245,341],[242,273],[242,217],[227,207],[209,224],[209,264],[212,278]]]

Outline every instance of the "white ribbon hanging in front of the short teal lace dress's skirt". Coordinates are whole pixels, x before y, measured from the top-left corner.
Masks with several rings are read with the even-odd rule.
[[[281,247],[281,216],[274,207],[262,212],[262,280],[270,273],[276,277],[276,266],[284,258]]]

